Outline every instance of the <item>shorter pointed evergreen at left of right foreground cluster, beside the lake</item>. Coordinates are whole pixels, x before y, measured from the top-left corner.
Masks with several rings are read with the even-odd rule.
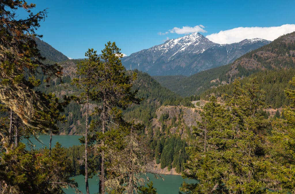
[[[221,172],[224,164],[220,161],[218,148],[223,147],[225,137],[219,137],[223,131],[231,136],[230,114],[226,107],[217,103],[214,96],[205,104],[201,112],[202,122],[194,127],[194,140],[186,149],[189,160],[184,164],[183,178],[199,180],[198,184],[183,183],[182,191],[192,193],[211,193],[223,188]],[[212,140],[216,141],[214,145]]]

